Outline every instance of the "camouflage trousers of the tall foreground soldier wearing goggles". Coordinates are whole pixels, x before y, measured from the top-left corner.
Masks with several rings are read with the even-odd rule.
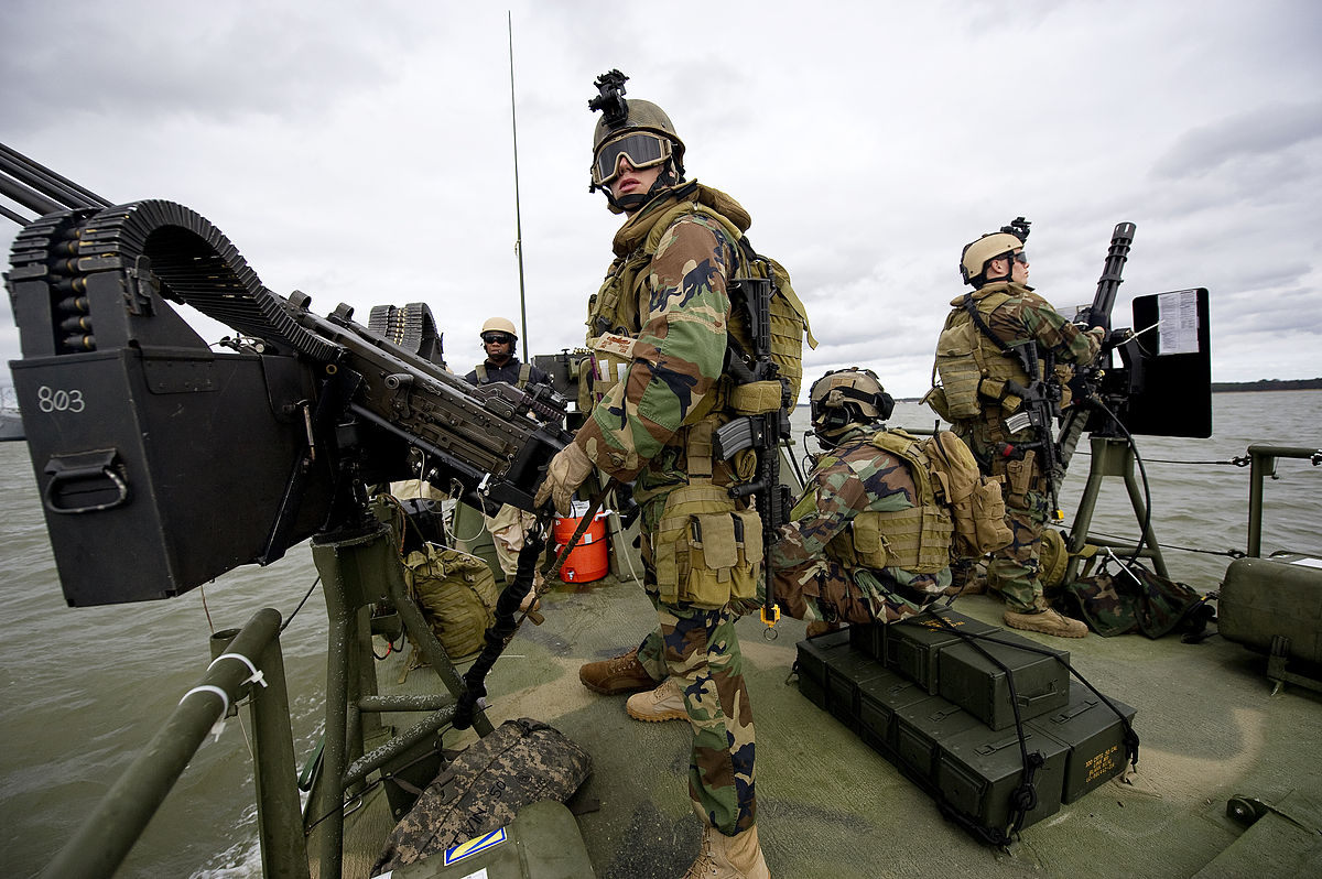
[[[665,604],[648,590],[660,628],[639,645],[639,661],[654,679],[674,678],[693,728],[689,800],[727,837],[754,826],[756,738],[752,705],[735,634],[738,613]]]

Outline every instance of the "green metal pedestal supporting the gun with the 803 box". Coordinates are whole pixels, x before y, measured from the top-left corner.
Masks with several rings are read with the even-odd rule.
[[[434,735],[455,716],[455,705],[464,683],[423,620],[418,604],[408,597],[403,564],[395,551],[394,531],[385,523],[369,525],[357,534],[319,534],[312,538],[312,559],[321,574],[329,619],[327,644],[327,727],[320,775],[304,829],[316,825],[320,839],[321,876],[338,876],[344,839],[345,794],[362,792],[368,776],[401,759],[406,751]],[[394,605],[405,629],[422,646],[422,653],[440,675],[449,697],[381,697],[371,649],[371,605],[386,600]],[[430,711],[407,731],[389,735],[381,723],[382,711]],[[485,736],[490,720],[481,708],[473,715],[473,728]],[[383,744],[365,753],[365,743]]]

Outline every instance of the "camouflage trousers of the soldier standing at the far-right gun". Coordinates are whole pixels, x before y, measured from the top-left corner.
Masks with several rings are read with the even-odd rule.
[[[1044,611],[1050,603],[1042,595],[1039,555],[1042,531],[1047,526],[1046,475],[1036,452],[1025,453],[1022,460],[1006,459],[995,453],[998,441],[1031,441],[1027,435],[1009,435],[998,418],[980,422],[960,422],[954,432],[969,444],[984,473],[1001,476],[1005,498],[1005,522],[1014,539],[992,554],[988,563],[988,586],[1001,592],[1010,611]]]

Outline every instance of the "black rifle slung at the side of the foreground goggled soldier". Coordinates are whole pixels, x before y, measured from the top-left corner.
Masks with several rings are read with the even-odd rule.
[[[780,367],[771,358],[771,297],[775,295],[771,266],[763,260],[765,278],[738,278],[730,284],[730,297],[742,309],[748,321],[752,337],[751,353],[742,352],[731,344],[726,369],[740,386],[761,383],[771,389],[779,386],[777,408],[760,415],[744,415],[718,428],[714,436],[717,457],[730,460],[746,448],[756,455],[756,472],[747,482],[730,489],[735,498],[754,496],[754,506],[761,517],[763,572],[765,576],[765,596],[761,607],[761,621],[775,627],[780,620],[776,605],[775,571],[771,562],[771,547],[779,539],[780,526],[789,521],[789,486],[780,482],[780,444],[789,436],[789,383],[779,374]]]

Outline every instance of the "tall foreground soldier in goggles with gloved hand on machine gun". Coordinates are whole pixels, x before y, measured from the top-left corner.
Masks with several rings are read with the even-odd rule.
[[[588,664],[579,677],[599,693],[648,690],[629,699],[636,718],[687,718],[689,797],[705,827],[686,876],[769,876],[735,633],[736,616],[755,601],[761,525],[746,500],[731,498],[739,477],[713,455],[715,428],[735,415],[727,348],[752,350],[730,296],[751,218],[730,196],[685,181],[685,145],[669,116],[625,100],[624,79],[600,77],[600,96],[590,102],[603,111],[591,188],[627,218],[588,305],[595,404],[551,460],[537,501],[564,510],[594,468],[635,482],[644,588],[660,628],[637,650]]]

